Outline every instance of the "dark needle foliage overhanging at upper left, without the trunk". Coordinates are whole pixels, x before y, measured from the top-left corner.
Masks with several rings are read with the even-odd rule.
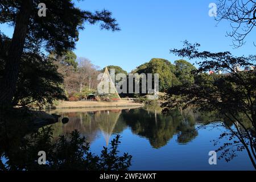
[[[90,24],[101,22],[101,28],[119,30],[109,11],[102,10],[92,13],[80,10],[70,0],[46,0],[44,3],[47,5],[47,16],[40,18],[38,16],[39,3],[39,0],[32,1],[32,5],[29,7],[32,10],[27,10],[31,12],[27,39],[32,41],[31,43],[35,43],[38,38],[42,39],[41,43],[44,43],[44,47],[49,51],[55,50],[59,54],[74,48],[75,42],[79,39],[79,30],[83,29],[82,23],[84,22]],[[0,22],[15,25],[17,10],[24,6],[22,1],[5,1],[1,2],[1,5]]]

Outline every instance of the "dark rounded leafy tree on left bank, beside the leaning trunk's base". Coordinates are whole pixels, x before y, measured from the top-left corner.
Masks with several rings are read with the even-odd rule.
[[[0,63],[5,64],[3,59],[0,59]],[[41,107],[47,103],[51,104],[55,99],[66,98],[61,86],[63,76],[47,57],[38,53],[23,54],[19,69],[14,105],[36,104]],[[0,70],[3,71],[1,68]]]

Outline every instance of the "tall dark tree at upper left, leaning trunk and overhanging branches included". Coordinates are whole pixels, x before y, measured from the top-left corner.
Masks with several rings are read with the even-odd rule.
[[[95,24],[106,30],[119,30],[118,24],[107,10],[90,11],[75,7],[71,0],[46,0],[46,16],[38,15],[39,0],[18,0],[0,2],[0,23],[8,23],[14,27],[10,44],[6,45],[0,38],[5,69],[0,78],[0,105],[13,105],[13,97],[19,76],[20,59],[25,52],[34,49],[44,52],[61,52],[75,47],[79,38],[79,30],[83,23]],[[0,48],[1,48],[0,47]],[[39,51],[41,52],[41,51]],[[42,52],[41,52],[42,53]]]

